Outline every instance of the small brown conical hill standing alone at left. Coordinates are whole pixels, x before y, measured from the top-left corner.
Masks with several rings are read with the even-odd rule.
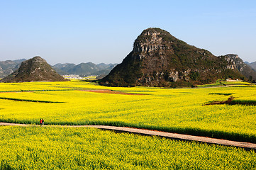
[[[21,63],[21,66],[1,82],[30,82],[30,81],[65,81],[41,57],[33,57]]]

